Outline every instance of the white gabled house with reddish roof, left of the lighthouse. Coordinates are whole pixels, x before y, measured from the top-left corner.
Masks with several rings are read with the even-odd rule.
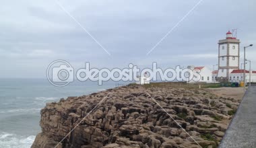
[[[193,67],[188,66],[187,68],[194,71],[194,73],[199,73],[201,76],[199,81],[188,81],[188,83],[197,83],[197,82],[205,82],[205,83],[212,83],[212,71],[207,67]]]

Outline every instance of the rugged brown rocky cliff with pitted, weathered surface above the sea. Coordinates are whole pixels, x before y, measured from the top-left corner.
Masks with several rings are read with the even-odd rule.
[[[32,148],[55,147],[79,122],[57,147],[217,147],[237,106],[202,89],[108,89],[46,104]]]

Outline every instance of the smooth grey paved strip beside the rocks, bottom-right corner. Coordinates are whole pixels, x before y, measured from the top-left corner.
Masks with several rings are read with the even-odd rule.
[[[256,86],[247,89],[219,147],[256,147]]]

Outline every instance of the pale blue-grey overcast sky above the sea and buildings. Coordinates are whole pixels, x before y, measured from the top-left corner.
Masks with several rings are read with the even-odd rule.
[[[241,49],[256,69],[256,1],[203,0],[146,55],[199,0],[67,1],[61,5],[110,53],[108,55],[54,0],[1,1],[0,77],[46,77],[52,61],[73,67],[150,67],[218,63],[218,40],[237,28]],[[243,51],[241,50],[243,55]],[[242,59],[242,58],[241,58]]]

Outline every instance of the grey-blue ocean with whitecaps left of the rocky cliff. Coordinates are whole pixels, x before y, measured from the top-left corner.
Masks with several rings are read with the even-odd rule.
[[[125,85],[125,83],[119,83]],[[82,96],[116,87],[86,81],[55,87],[46,79],[0,79],[0,148],[28,148],[41,129],[40,110],[47,102],[68,96]]]

